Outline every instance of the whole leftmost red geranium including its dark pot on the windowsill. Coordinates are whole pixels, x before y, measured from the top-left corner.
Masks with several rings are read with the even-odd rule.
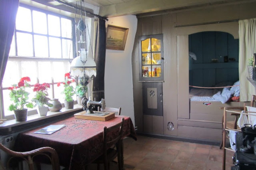
[[[29,77],[22,77],[18,84],[13,84],[12,87],[9,87],[10,90],[10,100],[13,102],[8,110],[14,111],[14,116],[16,121],[26,121],[28,116],[28,109],[24,108],[33,108],[33,104],[28,102],[28,93],[26,88],[30,88]]]

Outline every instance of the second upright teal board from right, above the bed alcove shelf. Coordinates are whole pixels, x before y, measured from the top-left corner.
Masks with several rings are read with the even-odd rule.
[[[224,62],[224,56],[228,55],[228,34],[225,32],[215,32],[215,57],[219,63]]]

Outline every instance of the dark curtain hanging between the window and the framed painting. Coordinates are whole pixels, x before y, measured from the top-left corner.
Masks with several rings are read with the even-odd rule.
[[[96,40],[95,40],[95,55],[96,77],[92,80],[92,99],[100,101],[105,98],[104,93],[104,76],[105,76],[105,60],[106,60],[106,21],[98,19]]]

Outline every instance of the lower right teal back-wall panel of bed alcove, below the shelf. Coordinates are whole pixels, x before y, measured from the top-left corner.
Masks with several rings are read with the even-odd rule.
[[[216,83],[225,81],[236,82],[239,79],[238,68],[216,69]]]

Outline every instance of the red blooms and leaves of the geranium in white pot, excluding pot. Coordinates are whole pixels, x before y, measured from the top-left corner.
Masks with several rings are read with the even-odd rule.
[[[48,92],[47,90],[50,88],[50,84],[43,83],[39,84],[36,83],[34,85],[33,91],[36,92],[35,97],[32,99],[32,102],[35,102],[36,104],[34,107],[44,107],[44,105],[47,105],[49,107],[52,107],[52,103],[49,103],[49,101],[52,101],[50,98],[48,98]]]

